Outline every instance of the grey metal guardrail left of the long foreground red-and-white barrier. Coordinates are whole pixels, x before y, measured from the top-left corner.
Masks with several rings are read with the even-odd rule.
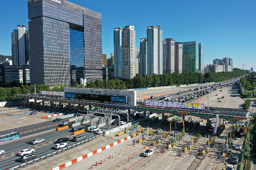
[[[74,146],[78,146],[79,144],[86,143],[87,141],[91,141],[92,139],[97,138],[97,137],[100,137],[100,136],[102,136],[102,135],[103,135],[103,134],[99,134],[99,135],[94,136],[94,137],[92,137],[92,138],[90,138],[90,139],[86,139],[86,140],[81,141],[81,142],[78,142],[78,143],[76,143],[76,144],[72,144],[72,145],[70,145],[70,146],[68,146],[68,147],[65,147],[65,148],[60,149],[60,150],[58,150],[58,151],[49,153],[49,154],[47,154],[47,155],[45,155],[45,156],[41,156],[41,157],[36,158],[36,159],[34,159],[34,160],[32,160],[32,161],[28,161],[28,162],[26,162],[26,163],[23,163],[23,164],[14,166],[14,167],[10,168],[9,170],[14,170],[14,169],[16,169],[16,168],[21,168],[22,166],[28,165],[28,164],[30,164],[30,163],[32,163],[32,162],[37,161],[37,160],[42,160],[42,158],[48,158],[48,156],[53,156],[55,153],[59,153],[60,151],[64,151],[64,150],[69,150],[69,148],[73,148]]]

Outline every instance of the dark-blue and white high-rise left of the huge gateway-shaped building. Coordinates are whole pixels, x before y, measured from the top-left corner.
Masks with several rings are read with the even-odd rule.
[[[27,26],[17,25],[11,33],[13,65],[22,66],[29,63],[29,42]]]

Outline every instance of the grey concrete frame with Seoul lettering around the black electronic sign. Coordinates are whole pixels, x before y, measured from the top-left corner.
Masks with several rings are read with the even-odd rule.
[[[119,95],[127,96],[129,105],[136,106],[136,91],[134,90],[111,90],[111,89],[95,89],[95,88],[64,88],[65,93],[84,93],[94,95]]]

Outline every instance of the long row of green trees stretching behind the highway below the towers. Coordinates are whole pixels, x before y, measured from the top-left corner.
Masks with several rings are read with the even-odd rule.
[[[146,88],[146,87],[160,87],[160,86],[173,86],[180,84],[194,84],[194,83],[207,83],[207,82],[220,82],[226,81],[232,78],[239,77],[241,75],[247,74],[248,71],[235,69],[233,72],[207,72],[204,75],[202,73],[168,73],[168,74],[153,74],[141,76],[137,74],[134,78],[129,78],[127,80],[119,79],[104,79],[103,81],[96,80],[95,82],[87,82],[85,85],[82,84],[80,88],[98,88],[98,89],[133,89],[133,88]],[[252,75],[251,75],[252,77]],[[14,82],[12,85],[16,85]],[[34,93],[36,87],[36,93],[41,93],[41,91],[56,91],[64,92],[66,87],[61,84],[60,87],[55,85],[50,88],[49,85],[35,84],[33,86],[24,85],[23,87],[13,87],[13,88],[0,88],[0,101],[10,101],[19,100],[19,97],[14,95],[17,94],[28,94]],[[69,87],[79,87],[76,83],[74,86]]]

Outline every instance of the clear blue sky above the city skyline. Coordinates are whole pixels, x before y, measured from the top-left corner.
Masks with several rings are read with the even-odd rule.
[[[163,26],[163,38],[205,45],[205,66],[216,58],[256,70],[256,0],[70,0],[102,13],[102,53],[114,52],[113,28],[132,25],[136,47],[147,26]],[[0,54],[12,55],[11,32],[27,25],[27,0],[1,0]],[[29,28],[28,28],[29,29]]]

